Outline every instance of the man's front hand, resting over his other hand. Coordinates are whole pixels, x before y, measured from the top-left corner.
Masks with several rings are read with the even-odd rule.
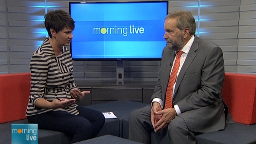
[[[153,125],[154,131],[160,132],[162,129],[167,127],[170,121],[176,116],[176,111],[175,109],[165,109],[162,111],[155,112],[155,115],[158,115],[158,117],[161,116],[157,123]]]

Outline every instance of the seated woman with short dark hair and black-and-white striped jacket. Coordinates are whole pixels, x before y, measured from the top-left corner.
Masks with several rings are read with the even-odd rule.
[[[73,78],[68,51],[74,20],[63,10],[44,16],[49,38],[34,52],[30,61],[31,90],[26,116],[40,129],[68,133],[71,143],[95,137],[104,125],[101,112],[78,106],[90,91],[80,91]]]

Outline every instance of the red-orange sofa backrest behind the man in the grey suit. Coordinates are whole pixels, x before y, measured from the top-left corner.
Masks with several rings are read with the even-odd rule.
[[[223,100],[237,123],[256,123],[256,75],[225,73]]]

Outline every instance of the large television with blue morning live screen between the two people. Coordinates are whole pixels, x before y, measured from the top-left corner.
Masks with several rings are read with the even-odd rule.
[[[70,2],[73,60],[160,60],[168,1]]]

